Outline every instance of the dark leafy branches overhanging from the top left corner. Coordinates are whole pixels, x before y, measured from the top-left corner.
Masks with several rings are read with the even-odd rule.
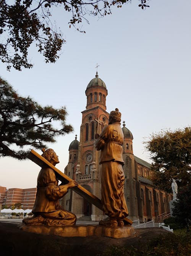
[[[70,12],[71,19],[67,22],[76,27],[83,20],[88,22],[86,15],[104,17],[111,13],[112,6],[121,7],[128,2],[131,0],[0,0],[0,59],[8,70],[11,66],[18,70],[31,68],[28,48],[33,42],[46,62],[54,63],[59,58],[65,40],[52,25],[51,7]],[[142,9],[149,7],[148,0],[138,2]]]

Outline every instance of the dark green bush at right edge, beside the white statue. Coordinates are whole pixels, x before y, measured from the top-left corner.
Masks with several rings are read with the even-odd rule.
[[[173,216],[176,217],[178,223],[181,223],[184,227],[186,226],[189,230],[191,224],[191,182],[180,188],[177,201],[173,204]]]

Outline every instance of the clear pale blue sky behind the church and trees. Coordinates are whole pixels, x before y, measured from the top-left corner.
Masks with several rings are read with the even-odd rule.
[[[8,72],[0,63],[0,76],[22,96],[30,95],[43,106],[67,107],[67,123],[74,132],[49,145],[57,152],[57,168],[62,171],[75,134],[79,140],[85,90],[97,63],[108,90],[107,111],[118,107],[122,113],[121,121],[134,137],[134,155],[151,162],[142,144],[150,134],[191,125],[191,1],[150,1],[144,11],[138,4],[132,0],[122,8],[113,7],[112,15],[87,17],[86,34],[69,29],[68,13],[53,10],[66,40],[57,63],[46,64],[35,46],[29,51],[32,69]],[[36,187],[39,170],[31,160],[1,157],[0,185]]]

